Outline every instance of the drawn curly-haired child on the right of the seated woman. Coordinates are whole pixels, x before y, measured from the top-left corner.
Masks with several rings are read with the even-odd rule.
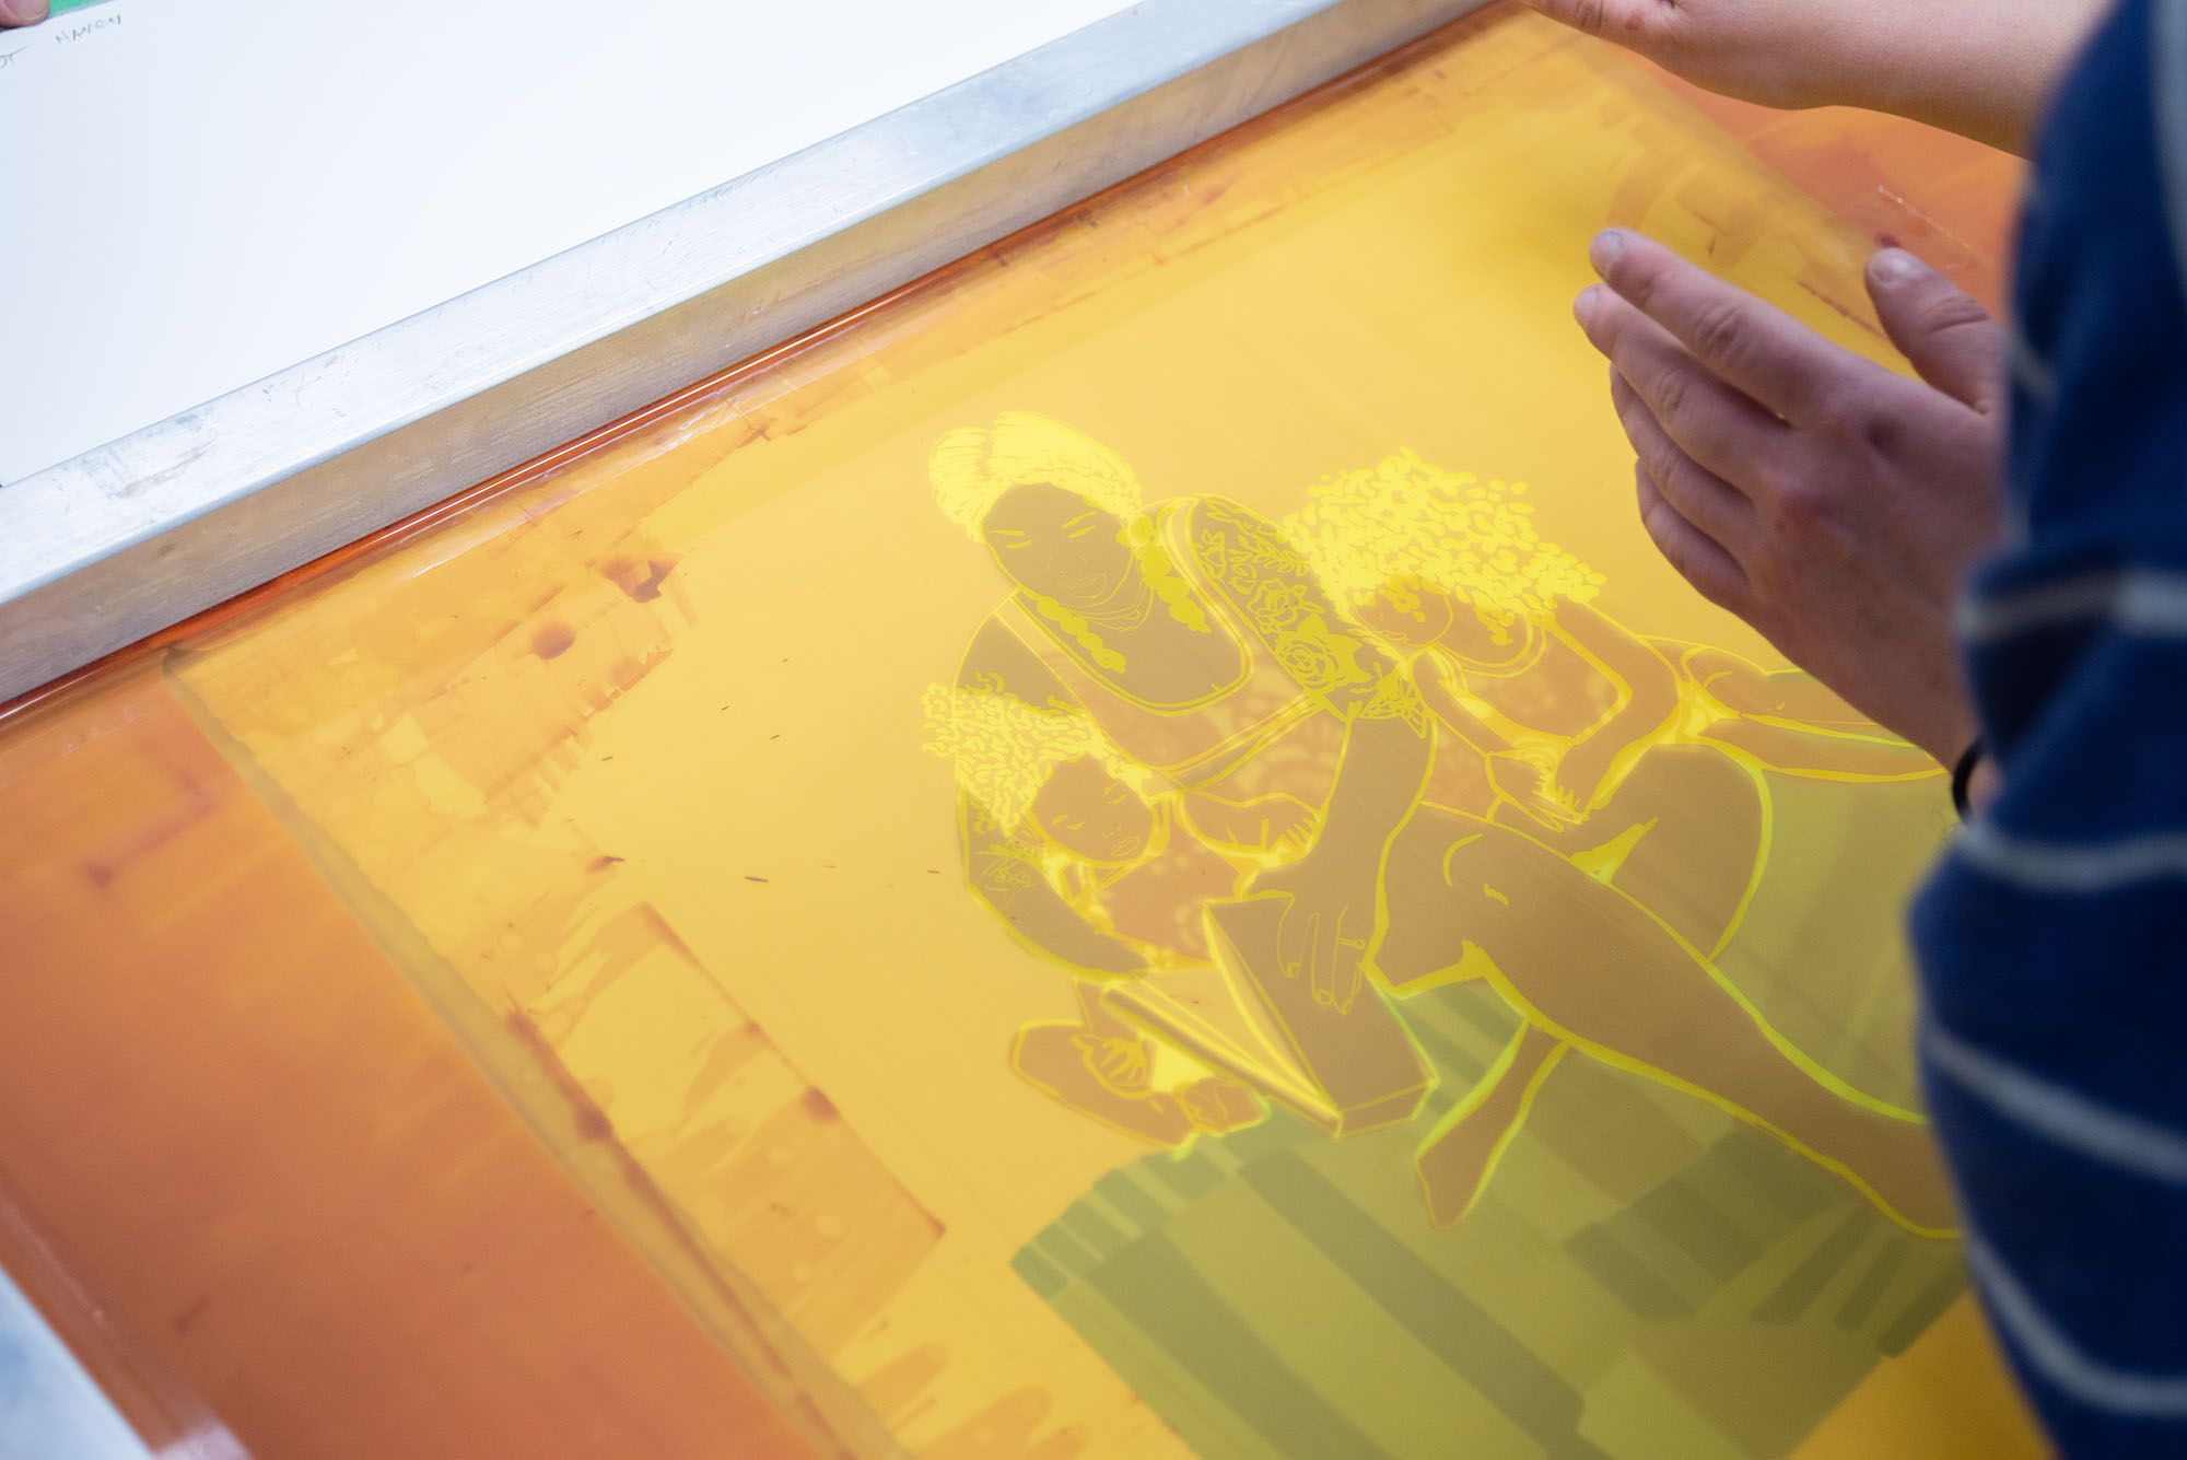
[[[1594,608],[1603,577],[1540,535],[1527,496],[1524,483],[1397,452],[1310,487],[1286,535],[1343,614],[1411,667],[1439,730],[1478,750],[1496,785],[1487,815],[1612,883],[1712,962],[1763,876],[1765,772],[1837,782],[1940,772],[1802,671],[1765,673],[1616,623]],[[1397,992],[1417,988],[1406,970],[1404,955],[1384,957]],[[1467,1182],[1478,1193],[1568,1049],[1551,1023],[1520,1025],[1424,1139],[1430,1204]]]

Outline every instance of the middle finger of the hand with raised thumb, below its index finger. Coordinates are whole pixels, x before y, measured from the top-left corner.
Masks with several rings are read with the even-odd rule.
[[[1693,352],[1618,295],[1594,286],[1579,295],[1575,315],[1680,450],[1723,481],[1743,487],[1785,450],[1785,422],[1704,369]]]

